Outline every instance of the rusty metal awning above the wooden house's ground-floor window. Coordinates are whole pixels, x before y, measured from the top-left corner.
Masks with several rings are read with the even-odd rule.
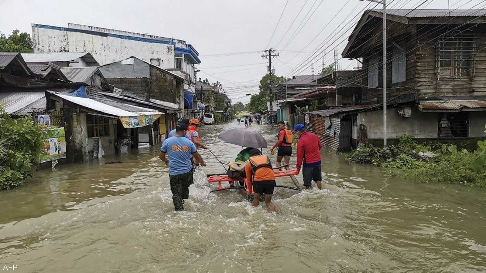
[[[478,108],[486,108],[486,101],[456,100],[418,102],[418,109],[422,112],[460,112]]]

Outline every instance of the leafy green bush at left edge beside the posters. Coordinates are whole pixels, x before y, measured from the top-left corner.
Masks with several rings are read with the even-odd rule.
[[[0,189],[16,188],[30,177],[44,149],[44,134],[31,117],[12,119],[0,108]]]

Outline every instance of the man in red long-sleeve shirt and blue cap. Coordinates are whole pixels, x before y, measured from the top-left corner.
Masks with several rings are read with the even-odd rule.
[[[300,173],[302,160],[304,160],[302,175],[304,176],[305,188],[312,188],[312,180],[314,180],[317,188],[322,189],[321,141],[316,134],[306,132],[304,124],[295,125],[294,132],[299,136],[297,142],[297,172]]]

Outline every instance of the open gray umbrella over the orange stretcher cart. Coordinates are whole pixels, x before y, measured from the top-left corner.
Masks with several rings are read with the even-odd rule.
[[[250,128],[233,127],[219,134],[219,138],[226,143],[243,147],[267,148],[265,138],[259,132]]]

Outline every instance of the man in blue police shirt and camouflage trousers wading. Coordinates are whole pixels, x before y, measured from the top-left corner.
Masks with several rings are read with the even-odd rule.
[[[186,123],[177,124],[175,136],[164,140],[158,156],[169,166],[169,179],[175,210],[184,210],[183,199],[189,199],[189,186],[193,183],[192,156],[201,166],[206,166],[203,158],[197,152],[196,145],[185,137],[187,129]],[[165,157],[166,154],[169,159]]]

